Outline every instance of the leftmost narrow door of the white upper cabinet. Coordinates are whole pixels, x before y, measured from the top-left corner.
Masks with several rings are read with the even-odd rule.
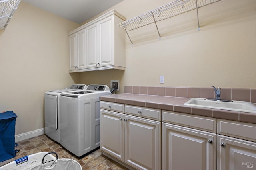
[[[69,46],[70,46],[70,61],[69,61],[69,70],[76,69],[76,34],[69,36]]]

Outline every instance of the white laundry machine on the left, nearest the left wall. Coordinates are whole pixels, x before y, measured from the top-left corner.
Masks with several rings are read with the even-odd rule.
[[[45,133],[56,142],[60,142],[60,94],[68,91],[84,90],[85,84],[72,84],[70,88],[49,90],[44,94]]]

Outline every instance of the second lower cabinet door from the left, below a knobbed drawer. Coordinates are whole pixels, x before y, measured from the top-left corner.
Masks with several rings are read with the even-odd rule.
[[[161,122],[125,115],[125,163],[136,169],[161,169]]]

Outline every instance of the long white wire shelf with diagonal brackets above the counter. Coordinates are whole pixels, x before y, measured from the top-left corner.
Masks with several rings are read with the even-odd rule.
[[[123,29],[125,29],[126,34],[128,35],[128,31],[132,31],[134,29],[155,23],[156,29],[158,31],[159,39],[161,39],[159,30],[156,24],[158,21],[162,21],[167,18],[171,18],[173,16],[177,16],[179,14],[183,14],[185,12],[189,12],[191,10],[196,9],[197,22],[198,22],[197,30],[200,31],[198,8],[201,8],[203,6],[206,6],[218,1],[220,0],[176,0],[176,1],[170,2],[169,4],[156,8],[152,11],[144,13],[140,16],[137,16],[130,20],[119,23],[118,28],[122,27]],[[129,35],[128,37],[132,43],[132,40]]]

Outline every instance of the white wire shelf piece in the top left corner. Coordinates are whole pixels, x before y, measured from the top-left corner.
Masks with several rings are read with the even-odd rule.
[[[0,29],[6,29],[21,0],[0,0]]]

